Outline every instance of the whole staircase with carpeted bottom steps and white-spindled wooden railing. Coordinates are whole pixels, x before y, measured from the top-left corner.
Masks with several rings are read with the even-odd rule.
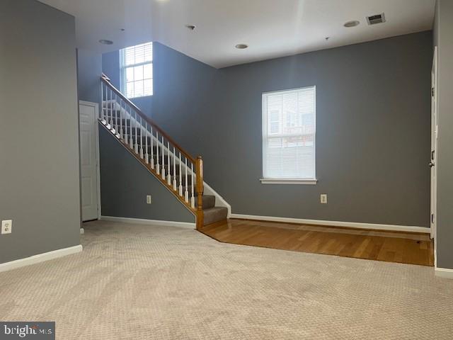
[[[98,121],[156,179],[195,215],[197,229],[226,220],[228,208],[204,195],[202,157],[192,157],[137,106],[101,77],[102,110]]]

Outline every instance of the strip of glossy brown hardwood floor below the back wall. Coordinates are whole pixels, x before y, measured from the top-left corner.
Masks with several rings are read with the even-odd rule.
[[[430,234],[234,219],[200,232],[225,243],[434,266]]]

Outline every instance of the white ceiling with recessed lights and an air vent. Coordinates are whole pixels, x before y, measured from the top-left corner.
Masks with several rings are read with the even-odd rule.
[[[158,41],[217,68],[430,30],[435,7],[435,0],[40,1],[76,17],[79,48],[110,52]],[[365,16],[382,12],[386,23],[367,25]],[[343,27],[351,20],[360,25]],[[236,49],[239,43],[248,49]]]

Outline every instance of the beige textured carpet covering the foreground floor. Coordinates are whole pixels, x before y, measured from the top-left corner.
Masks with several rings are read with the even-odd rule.
[[[452,339],[433,269],[222,244],[190,229],[91,222],[84,252],[0,273],[0,320],[57,339]]]

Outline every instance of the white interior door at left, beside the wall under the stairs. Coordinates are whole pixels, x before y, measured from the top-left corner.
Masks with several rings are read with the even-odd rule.
[[[82,220],[89,221],[98,219],[98,104],[81,101],[79,115]]]

